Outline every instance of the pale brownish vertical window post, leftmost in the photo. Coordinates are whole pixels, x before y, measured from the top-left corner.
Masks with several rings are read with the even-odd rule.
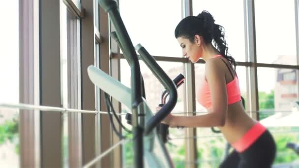
[[[38,4],[19,3],[19,101],[34,105],[39,105]],[[20,167],[40,167],[39,123],[39,111],[19,111]]]

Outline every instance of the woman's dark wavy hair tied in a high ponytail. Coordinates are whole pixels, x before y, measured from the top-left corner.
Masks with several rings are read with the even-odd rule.
[[[194,43],[194,36],[198,34],[204,38],[206,44],[213,41],[218,52],[234,65],[236,71],[236,61],[227,52],[228,45],[224,38],[224,28],[214,22],[213,16],[205,10],[197,16],[187,16],[179,22],[175,30],[175,36],[176,38],[187,38]]]

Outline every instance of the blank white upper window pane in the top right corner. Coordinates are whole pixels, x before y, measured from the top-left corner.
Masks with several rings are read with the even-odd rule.
[[[254,3],[257,62],[297,65],[294,0]]]

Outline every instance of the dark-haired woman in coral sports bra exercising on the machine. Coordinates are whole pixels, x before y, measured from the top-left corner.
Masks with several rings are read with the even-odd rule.
[[[236,61],[228,56],[223,27],[214,24],[213,16],[203,11],[198,16],[182,19],[175,36],[183,56],[193,63],[200,58],[206,62],[205,82],[197,93],[197,100],[208,113],[169,114],[162,122],[170,127],[219,127],[235,149],[220,168],[270,168],[276,153],[275,142],[269,131],[244,111]]]

